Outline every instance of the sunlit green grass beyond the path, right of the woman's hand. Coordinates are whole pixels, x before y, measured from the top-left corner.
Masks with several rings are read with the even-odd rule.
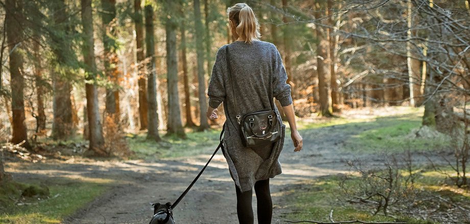
[[[298,121],[298,129],[304,136],[315,132],[331,131],[330,126],[337,126],[342,131],[353,132],[343,144],[346,151],[360,152],[403,152],[446,149],[451,138],[442,135],[438,138],[415,138],[413,131],[421,127],[421,108],[399,108],[393,116],[375,116],[368,118],[322,118]]]

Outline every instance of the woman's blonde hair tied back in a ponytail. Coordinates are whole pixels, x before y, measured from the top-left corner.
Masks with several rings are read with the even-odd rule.
[[[237,3],[227,9],[228,18],[236,27],[237,34],[251,43],[253,40],[260,40],[260,24],[251,7],[246,3]]]

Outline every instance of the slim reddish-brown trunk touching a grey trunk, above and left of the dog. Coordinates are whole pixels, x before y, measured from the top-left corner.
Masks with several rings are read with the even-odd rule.
[[[146,72],[144,57],[144,23],[142,18],[141,0],[134,0],[134,19],[135,19],[135,42],[137,45],[137,75],[139,86],[139,119],[140,130],[147,129],[148,125],[148,105],[146,91]]]

